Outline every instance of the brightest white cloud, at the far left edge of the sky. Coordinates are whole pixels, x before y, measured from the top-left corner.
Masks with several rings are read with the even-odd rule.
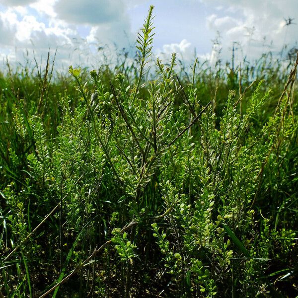
[[[36,16],[22,15],[18,9],[8,8],[0,12],[0,51],[10,61],[23,63],[26,59],[33,61],[33,56],[44,59],[49,51],[53,53],[58,47],[57,65],[64,62],[69,65],[70,53],[74,51],[73,38],[78,37],[76,30],[65,26],[64,22],[46,25]]]

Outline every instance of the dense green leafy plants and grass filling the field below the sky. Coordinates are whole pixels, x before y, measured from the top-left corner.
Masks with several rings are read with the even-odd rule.
[[[296,297],[298,62],[0,75],[0,297]]]

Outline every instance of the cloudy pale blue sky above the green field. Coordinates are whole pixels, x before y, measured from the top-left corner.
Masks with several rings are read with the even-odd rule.
[[[233,46],[239,61],[268,51],[285,58],[285,45],[298,47],[298,0],[0,0],[0,60],[45,61],[57,49],[59,67],[95,68],[116,52],[133,55],[150,4],[161,59],[176,52],[212,64]]]

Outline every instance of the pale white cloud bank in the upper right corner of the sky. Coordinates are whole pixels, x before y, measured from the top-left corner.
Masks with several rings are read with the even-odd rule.
[[[203,0],[206,5],[218,5],[216,0]],[[298,12],[297,0],[222,0],[225,16],[211,14],[206,19],[208,28],[220,31],[223,56],[228,57],[228,48],[234,41],[242,46],[243,54],[256,58],[270,50],[276,54],[284,43],[294,46],[297,40],[296,25],[285,27],[284,17]],[[223,13],[223,11],[221,11]],[[264,42],[264,37],[266,41]]]

